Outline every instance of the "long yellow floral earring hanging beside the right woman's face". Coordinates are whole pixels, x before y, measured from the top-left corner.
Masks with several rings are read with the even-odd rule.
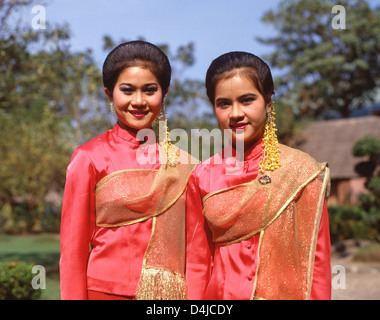
[[[261,173],[269,170],[273,171],[281,166],[280,164],[280,151],[278,149],[278,140],[276,135],[276,124],[274,117],[274,102],[271,110],[267,110],[267,121],[265,123],[264,137],[263,137],[263,154],[259,163],[259,170]]]

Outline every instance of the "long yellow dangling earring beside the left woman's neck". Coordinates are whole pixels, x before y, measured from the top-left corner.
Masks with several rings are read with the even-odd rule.
[[[178,157],[179,154],[175,150],[173,144],[171,143],[171,139],[169,138],[169,128],[168,128],[168,120],[166,119],[166,103],[165,100],[162,101],[162,106],[160,109],[160,113],[158,114],[157,118],[155,119],[156,124],[158,126],[158,137],[159,137],[159,144],[164,148],[166,151],[166,161],[169,164],[169,166],[173,167],[178,163]],[[161,125],[160,125],[161,122]]]

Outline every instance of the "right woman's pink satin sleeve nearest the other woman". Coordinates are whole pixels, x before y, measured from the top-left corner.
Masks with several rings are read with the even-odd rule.
[[[202,198],[195,173],[196,170],[190,176],[186,197],[186,281],[189,299],[203,300],[211,274],[212,242],[202,213]]]

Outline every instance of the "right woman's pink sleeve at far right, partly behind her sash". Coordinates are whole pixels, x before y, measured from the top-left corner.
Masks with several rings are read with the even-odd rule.
[[[331,242],[326,201],[318,233],[310,299],[331,299]]]

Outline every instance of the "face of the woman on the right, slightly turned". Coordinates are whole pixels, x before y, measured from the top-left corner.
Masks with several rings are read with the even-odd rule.
[[[270,105],[265,104],[264,97],[248,77],[235,75],[220,80],[215,87],[214,107],[221,128],[231,129],[232,142],[244,142],[245,150],[263,135]]]

